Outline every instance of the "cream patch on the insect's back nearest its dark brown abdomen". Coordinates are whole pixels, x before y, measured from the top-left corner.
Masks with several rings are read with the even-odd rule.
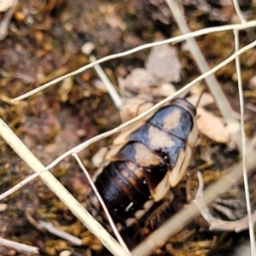
[[[160,160],[142,143],[135,144],[136,154],[135,160],[138,166],[157,166]]]

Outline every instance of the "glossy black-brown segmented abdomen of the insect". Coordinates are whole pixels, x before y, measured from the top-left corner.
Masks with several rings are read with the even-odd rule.
[[[113,162],[104,168],[95,183],[113,219],[121,224],[143,209],[150,196],[147,184],[135,172],[140,170],[131,162]]]

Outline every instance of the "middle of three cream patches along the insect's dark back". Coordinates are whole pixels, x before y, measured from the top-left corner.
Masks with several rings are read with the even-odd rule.
[[[171,148],[175,145],[166,131],[161,131],[153,125],[150,125],[148,129],[148,139],[153,148]]]

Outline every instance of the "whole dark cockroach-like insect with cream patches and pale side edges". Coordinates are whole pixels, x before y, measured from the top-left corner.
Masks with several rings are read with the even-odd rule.
[[[116,223],[139,221],[154,202],[172,196],[197,138],[195,107],[177,98],[113,141],[94,181]],[[91,205],[101,211],[96,195]]]

